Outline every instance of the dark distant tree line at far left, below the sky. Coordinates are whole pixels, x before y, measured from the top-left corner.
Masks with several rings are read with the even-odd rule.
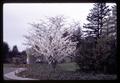
[[[16,63],[18,62],[17,59],[20,59],[23,56],[26,56],[26,52],[24,50],[22,52],[19,52],[16,45],[14,45],[13,49],[10,50],[8,43],[3,42],[3,63]]]

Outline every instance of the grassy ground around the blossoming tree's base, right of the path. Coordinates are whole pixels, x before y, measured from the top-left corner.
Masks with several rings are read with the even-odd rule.
[[[76,63],[58,64],[56,70],[47,64],[31,64],[28,70],[18,73],[18,76],[40,80],[115,80],[116,75],[92,74],[75,71]]]

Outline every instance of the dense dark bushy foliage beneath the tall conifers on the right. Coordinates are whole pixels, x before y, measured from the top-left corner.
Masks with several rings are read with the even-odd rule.
[[[95,45],[95,41],[90,39],[83,40],[77,51],[76,62],[79,64],[80,70],[96,73],[116,73],[117,47],[115,40],[101,38],[97,40]]]

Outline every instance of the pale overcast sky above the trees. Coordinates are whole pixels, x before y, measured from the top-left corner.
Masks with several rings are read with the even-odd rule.
[[[28,23],[39,21],[45,16],[64,15],[70,21],[79,21],[82,27],[87,22],[86,16],[93,3],[7,3],[3,6],[3,40],[10,49],[17,45],[18,50],[22,51],[25,49],[23,35],[28,33],[30,27]]]

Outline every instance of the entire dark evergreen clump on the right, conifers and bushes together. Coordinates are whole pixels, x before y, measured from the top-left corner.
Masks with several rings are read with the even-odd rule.
[[[105,3],[95,3],[94,8],[91,9],[87,17],[90,23],[84,26],[88,29],[86,31],[87,37],[79,40],[81,43],[79,43],[76,51],[76,62],[79,64],[81,71],[117,73],[115,8],[114,6],[112,9],[112,12],[114,12],[112,16],[109,15],[110,9]],[[104,21],[108,18],[110,20]],[[108,33],[108,30],[111,32]]]

